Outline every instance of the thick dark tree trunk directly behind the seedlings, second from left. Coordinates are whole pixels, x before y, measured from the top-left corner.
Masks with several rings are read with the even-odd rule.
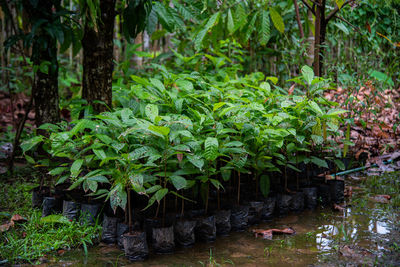
[[[82,39],[83,83],[82,98],[93,106],[95,112],[102,112],[112,104],[113,35],[116,0],[100,1],[100,18],[97,28],[85,24]]]

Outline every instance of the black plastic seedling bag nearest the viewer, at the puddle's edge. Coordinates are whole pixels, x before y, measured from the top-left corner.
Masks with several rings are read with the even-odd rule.
[[[144,261],[149,255],[146,232],[133,232],[123,235],[125,256],[130,261]]]

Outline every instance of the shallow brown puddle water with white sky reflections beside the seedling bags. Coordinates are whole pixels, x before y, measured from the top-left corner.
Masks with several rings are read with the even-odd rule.
[[[150,255],[149,260],[140,266],[201,266],[208,265],[210,249],[216,263],[232,261],[236,266],[307,266],[321,264],[326,257],[337,259],[338,249],[344,245],[359,246],[365,249],[384,250],[385,245],[378,244],[381,235],[390,233],[390,221],[376,216],[379,207],[346,208],[344,212],[332,212],[330,209],[307,211],[292,214],[272,222],[255,226],[258,229],[293,227],[296,235],[274,236],[273,240],[255,238],[249,231],[231,233],[228,237],[219,237],[211,244],[196,243],[188,249],[177,248],[173,255]],[[382,212],[382,211],[379,211]],[[122,252],[117,248],[95,247],[89,250],[85,258],[81,251],[74,251],[63,258],[77,265],[105,265],[116,261]],[[122,256],[118,263],[129,262]],[[202,264],[200,264],[202,263]],[[216,265],[216,264],[214,264]]]

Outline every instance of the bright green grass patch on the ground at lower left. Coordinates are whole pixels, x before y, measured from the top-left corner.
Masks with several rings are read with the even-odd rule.
[[[99,240],[101,226],[69,222],[61,215],[43,220],[41,210],[31,207],[31,189],[35,186],[23,179],[0,183],[0,223],[13,214],[27,219],[0,233],[0,262],[36,264],[60,249],[83,248],[87,253],[88,246]]]

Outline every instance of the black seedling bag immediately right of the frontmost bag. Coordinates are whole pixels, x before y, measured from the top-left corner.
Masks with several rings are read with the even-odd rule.
[[[174,227],[153,228],[152,245],[154,253],[170,254],[174,252]]]

